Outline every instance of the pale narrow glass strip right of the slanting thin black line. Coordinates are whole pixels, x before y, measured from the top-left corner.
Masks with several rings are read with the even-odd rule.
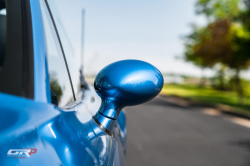
[[[58,30],[60,40],[62,42],[63,50],[69,67],[69,72],[72,80],[72,85],[74,87],[74,93],[76,97],[80,91],[80,59],[76,56],[73,46],[70,43],[68,34],[66,33],[63,26],[63,18],[61,18],[58,6],[60,6],[60,1],[47,0],[49,8],[51,9],[52,16],[54,18],[56,28]],[[59,2],[59,3],[58,3]],[[70,13],[71,14],[71,13]],[[80,38],[79,34],[79,38]]]

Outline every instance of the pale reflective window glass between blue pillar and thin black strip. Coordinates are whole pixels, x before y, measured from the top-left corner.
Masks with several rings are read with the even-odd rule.
[[[62,107],[74,101],[74,95],[55,28],[45,2],[40,0],[40,3],[45,29],[50,88],[57,96],[58,106]]]

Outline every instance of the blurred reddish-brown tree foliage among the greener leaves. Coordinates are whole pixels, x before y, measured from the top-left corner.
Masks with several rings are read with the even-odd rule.
[[[186,38],[185,59],[200,67],[213,67],[230,59],[233,56],[230,26],[230,22],[223,19],[194,29]]]

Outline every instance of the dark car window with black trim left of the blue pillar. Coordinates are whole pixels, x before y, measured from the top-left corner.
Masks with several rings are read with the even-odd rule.
[[[0,92],[34,98],[34,68],[26,2],[0,0]],[[25,43],[25,44],[24,44]],[[31,59],[30,59],[31,58]]]

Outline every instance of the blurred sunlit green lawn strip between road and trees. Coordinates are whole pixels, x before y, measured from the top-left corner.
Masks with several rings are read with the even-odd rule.
[[[192,85],[164,85],[161,94],[179,96],[203,103],[224,104],[231,106],[235,111],[250,112],[250,97],[246,97],[245,105],[239,105],[235,92],[218,91],[209,87]]]

